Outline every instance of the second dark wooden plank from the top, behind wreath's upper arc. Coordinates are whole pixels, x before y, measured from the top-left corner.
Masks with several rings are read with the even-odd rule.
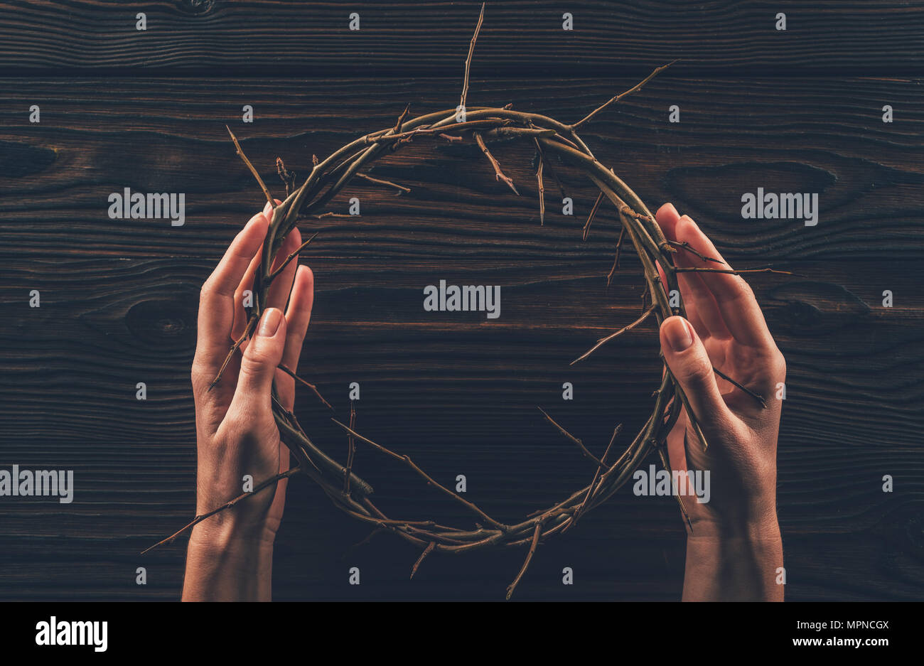
[[[652,205],[675,201],[723,248],[742,258],[841,260],[883,253],[918,258],[924,114],[914,80],[682,80],[666,75],[592,121],[583,133],[598,157],[620,169],[645,200]],[[3,105],[21,114],[0,127],[5,149],[0,152],[0,211],[5,213],[0,233],[18,253],[41,255],[54,248],[80,256],[82,250],[62,236],[74,234],[96,252],[120,257],[216,257],[241,224],[234,215],[244,217],[261,205],[259,189],[235,156],[225,123],[236,127],[264,179],[282,193],[276,156],[304,175],[312,153],[323,157],[366,131],[391,127],[407,102],[419,114],[452,107],[458,89],[456,82],[444,79],[49,79],[28,89],[15,80],[2,83]],[[513,102],[518,109],[567,121],[632,83],[474,81],[470,100]],[[41,124],[28,122],[31,103],[43,109]],[[243,104],[254,106],[253,125],[239,122]],[[680,123],[667,120],[671,104],[680,106]],[[892,124],[881,122],[884,104],[894,107]],[[531,260],[586,259],[589,251],[599,260],[610,255],[609,236],[592,233],[588,243],[581,243],[570,229],[582,221],[554,214],[561,209],[553,206],[557,193],[551,181],[546,189],[549,222],[540,228],[532,154],[515,151],[506,157],[505,152],[505,169],[524,193],[518,199],[505,195],[471,146],[428,141],[414,151],[395,153],[377,163],[374,173],[415,191],[395,197],[387,188],[357,183],[349,196],[364,200],[364,216],[313,224],[322,231],[319,246],[323,241],[330,251],[356,251],[367,242],[365,232],[376,229],[375,247],[383,257],[390,252],[457,256],[470,251],[473,236],[484,235],[496,241],[498,257],[508,256],[511,242],[528,251]],[[106,198],[125,187],[186,193],[187,226],[108,220]],[[821,224],[746,224],[740,197],[757,187],[820,192]],[[589,210],[592,188],[572,179],[568,189],[578,212]],[[346,199],[345,192],[334,200],[337,210],[346,210]],[[461,224],[432,224],[433,202],[446,199],[452,200]],[[395,228],[389,216],[400,218],[401,226]],[[192,227],[195,233],[188,233]],[[203,228],[212,233],[200,233]],[[434,247],[408,243],[402,229]],[[557,235],[556,242],[572,240],[564,250],[550,249],[546,234]]]

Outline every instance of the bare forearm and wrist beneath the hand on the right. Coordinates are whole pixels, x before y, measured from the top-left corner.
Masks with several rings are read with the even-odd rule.
[[[773,516],[760,526],[726,533],[700,529],[687,536],[685,601],[782,601],[777,584],[783,540]]]

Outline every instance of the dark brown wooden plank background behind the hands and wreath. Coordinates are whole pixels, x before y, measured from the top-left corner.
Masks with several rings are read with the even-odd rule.
[[[787,598],[921,599],[924,592],[924,3],[491,2],[470,104],[574,121],[683,61],[583,132],[653,209],[689,212],[750,281],[788,362],[779,452]],[[457,103],[479,3],[0,3],[0,464],[75,470],[75,501],[0,499],[0,598],[177,599],[185,540],[140,556],[194,509],[188,369],[201,282],[261,207],[224,124],[277,193],[274,158],[306,174],[359,134]],[[148,30],[135,30],[147,13]],[[361,30],[346,29],[349,12]],[[562,11],[575,30],[561,30]],[[788,30],[774,30],[787,14]],[[39,104],[41,124],[30,124]],[[251,104],[256,121],[240,122]],[[681,122],[667,122],[677,104]],[[893,124],[881,122],[883,104]],[[541,421],[549,409],[602,450],[632,430],[658,377],[656,333],[568,368],[638,311],[627,253],[606,292],[607,205],[547,179],[539,225],[529,151],[499,147],[523,196],[470,147],[419,145],[357,182],[362,215],[306,224],[316,300],[300,370],[340,414],[503,519],[553,503],[592,469]],[[187,222],[110,220],[123,188],[185,192]],[[815,227],[745,221],[763,187],[820,192]],[[422,288],[502,285],[502,315],[426,313]],[[42,307],[30,309],[29,292]],[[881,293],[894,292],[894,308]],[[135,399],[145,381],[148,400]],[[561,399],[572,381],[576,399]],[[337,457],[345,438],[307,396],[301,421]],[[470,524],[403,468],[360,447],[357,469],[395,515]],[[881,491],[884,474],[894,493]],[[522,551],[433,556],[368,530],[307,480],[289,490],[276,599],[502,599]],[[344,553],[346,552],[346,556]],[[519,599],[678,599],[684,533],[670,498],[624,488],[538,551]],[[347,569],[362,572],[347,585]],[[147,586],[135,584],[144,566]],[[561,570],[575,585],[561,585]]]

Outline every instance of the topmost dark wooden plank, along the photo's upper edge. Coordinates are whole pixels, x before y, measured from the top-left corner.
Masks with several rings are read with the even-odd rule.
[[[0,4],[0,69],[62,73],[328,76],[458,75],[478,2],[286,3],[92,0]],[[473,76],[638,75],[675,58],[689,72],[842,75],[921,71],[920,2],[808,5],[491,3]],[[137,13],[147,17],[138,30]],[[563,15],[574,30],[563,30]],[[359,30],[349,30],[350,14]],[[786,30],[777,30],[777,14]]]

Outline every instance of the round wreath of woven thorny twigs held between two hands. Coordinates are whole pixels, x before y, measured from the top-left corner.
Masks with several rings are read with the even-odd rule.
[[[363,166],[373,163],[379,157],[391,152],[400,150],[408,144],[418,143],[424,139],[437,139],[449,141],[472,140],[484,153],[491,163],[495,177],[498,181],[503,181],[516,192],[513,181],[505,176],[501,170],[500,163],[494,158],[488,148],[488,142],[492,139],[520,139],[531,141],[535,145],[538,156],[537,179],[540,194],[540,216],[544,220],[544,187],[543,187],[543,166],[547,166],[550,171],[552,164],[546,159],[547,153],[554,153],[562,158],[565,163],[570,163],[577,167],[579,171],[588,176],[593,184],[600,189],[600,195],[593,206],[587,223],[584,225],[584,233],[590,228],[590,223],[604,197],[611,200],[616,210],[619,212],[622,229],[619,241],[616,246],[614,258],[614,270],[618,267],[619,252],[622,247],[624,236],[628,236],[632,245],[635,247],[638,257],[641,260],[647,294],[650,297],[650,305],[644,308],[641,316],[636,321],[629,323],[624,328],[601,338],[596,345],[590,348],[579,359],[590,356],[590,354],[600,346],[610,342],[622,333],[626,333],[642,322],[654,317],[659,325],[661,321],[672,315],[686,316],[684,305],[679,298],[680,289],[677,285],[678,272],[694,271],[712,271],[712,272],[729,272],[736,273],[725,268],[679,268],[675,266],[673,255],[678,250],[689,251],[702,260],[712,260],[719,264],[723,262],[704,257],[699,252],[690,248],[686,243],[676,243],[667,240],[661,231],[661,228],[655,222],[654,216],[645,206],[644,202],[638,198],[635,192],[629,188],[626,183],[616,176],[612,169],[608,169],[598,162],[593,153],[585,145],[584,141],[577,136],[577,127],[588,122],[594,115],[600,113],[604,108],[612,103],[618,102],[625,95],[641,89],[650,79],[655,77],[664,68],[665,65],[658,67],[638,85],[629,89],[586,115],[581,120],[572,125],[561,123],[546,115],[529,114],[514,111],[507,105],[503,108],[475,106],[466,107],[466,95],[468,92],[468,69],[471,63],[472,53],[474,51],[475,41],[484,16],[484,6],[481,7],[481,14],[478,26],[472,37],[468,58],[466,60],[465,79],[462,88],[462,95],[459,106],[456,109],[438,111],[436,113],[420,115],[416,118],[407,118],[409,105],[395,123],[394,127],[381,129],[377,132],[371,132],[359,139],[355,139],[337,151],[334,151],[327,159],[318,161],[314,160],[314,168],[310,176],[298,189],[294,188],[294,176],[286,171],[285,165],[281,160],[277,160],[276,165],[280,177],[286,184],[286,200],[279,205],[270,194],[269,189],[263,183],[257,170],[250,163],[244,152],[241,151],[234,134],[231,138],[237,148],[237,154],[244,163],[247,164],[253,176],[259,182],[263,194],[274,207],[272,223],[269,225],[266,239],[263,243],[261,256],[261,265],[257,271],[252,293],[254,295],[253,306],[248,309],[248,324],[245,333],[237,342],[232,345],[227,361],[237,353],[239,345],[249,336],[256,328],[259,321],[264,303],[267,302],[267,294],[274,279],[281,274],[289,261],[298,256],[298,253],[305,248],[314,236],[311,236],[301,247],[292,252],[285,260],[279,263],[275,270],[271,270],[276,260],[276,255],[286,239],[286,235],[295,227],[299,220],[307,218],[317,218],[332,213],[322,213],[325,204],[332,200],[341,189],[354,177],[363,177],[369,180],[377,180],[359,172]],[[228,132],[230,133],[230,129]],[[553,174],[554,176],[554,174]],[[557,180],[557,176],[554,176]],[[387,181],[378,181],[396,188],[400,186]],[[560,186],[560,183],[559,183]],[[405,188],[406,189],[406,188]],[[290,191],[293,190],[293,191]],[[663,270],[666,285],[662,284],[662,278],[658,272],[658,265]],[[770,272],[771,269],[762,269],[761,271]],[[610,273],[612,278],[613,272]],[[675,293],[675,306],[672,307],[667,295]],[[662,356],[663,361],[663,356]],[[224,371],[225,366],[222,367]],[[298,381],[310,387],[310,389],[323,400],[321,394],[308,381],[298,378],[297,375],[287,368],[284,369]],[[221,379],[222,371],[214,379],[214,386]],[[716,370],[718,372],[718,370]],[[721,373],[720,373],[721,374]],[[763,401],[760,395],[754,394],[748,388],[742,386],[731,378],[722,375],[724,379],[731,381],[738,388],[752,395],[756,400]],[[210,387],[211,388],[211,387]],[[495,520],[480,509],[475,503],[471,503],[453,490],[449,490],[443,484],[430,477],[423,469],[417,466],[407,455],[397,454],[383,445],[371,441],[371,439],[359,434],[355,428],[355,412],[351,407],[350,423],[347,425],[336,418],[332,418],[343,430],[346,430],[349,439],[349,453],[346,465],[343,465],[328,454],[322,452],[314,443],[311,442],[309,435],[298,424],[295,415],[288,411],[279,402],[275,386],[273,388],[273,412],[275,422],[279,428],[282,441],[291,450],[298,460],[298,465],[293,466],[286,472],[268,478],[258,484],[252,491],[245,493],[229,503],[216,508],[208,514],[198,515],[196,518],[182,530],[168,539],[174,539],[178,534],[201,522],[205,518],[218,513],[226,508],[234,506],[237,502],[244,500],[246,497],[274,485],[281,478],[288,478],[297,473],[305,474],[313,479],[322,490],[330,497],[331,501],[348,515],[352,515],[359,520],[369,523],[376,530],[387,529],[400,535],[407,541],[419,546],[422,549],[417,563],[412,568],[411,575],[417,571],[419,564],[423,559],[433,551],[437,552],[465,552],[474,551],[481,548],[493,546],[521,546],[529,544],[526,560],[520,568],[514,581],[507,587],[506,598],[510,599],[517,583],[522,578],[529,566],[533,553],[542,539],[551,537],[558,532],[564,532],[569,527],[577,523],[578,518],[605,502],[616,490],[618,490],[632,473],[638,468],[640,463],[652,452],[657,452],[665,469],[670,468],[667,455],[664,451],[664,441],[667,434],[674,427],[677,418],[680,416],[681,409],[686,409],[692,429],[696,432],[699,443],[704,448],[707,446],[705,437],[699,427],[699,419],[693,413],[681,387],[675,381],[670,369],[666,363],[663,364],[663,378],[658,389],[652,394],[654,406],[651,410],[650,417],[647,419],[644,427],[638,431],[632,442],[626,447],[626,450],[615,460],[611,460],[610,450],[614,445],[620,428],[614,430],[613,438],[606,447],[601,458],[597,458],[588,451],[576,437],[568,433],[564,428],[555,423],[548,415],[545,417],[560,430],[567,438],[576,442],[581,448],[583,454],[587,456],[596,466],[590,483],[585,487],[575,490],[571,495],[559,503],[553,504],[540,512],[527,516],[521,522],[515,525],[507,525],[501,521]],[[433,486],[452,497],[456,502],[462,503],[472,514],[478,516],[475,528],[447,527],[439,525],[430,520],[402,520],[391,518],[383,513],[371,500],[372,488],[370,484],[359,478],[352,471],[353,454],[355,452],[355,442],[365,442],[372,448],[387,454],[396,460],[404,462],[407,466],[416,472],[419,477]],[[684,510],[683,501],[676,496],[680,504],[681,512],[687,519],[687,512]],[[159,544],[158,544],[159,545]],[[150,549],[149,549],[150,550]]]

